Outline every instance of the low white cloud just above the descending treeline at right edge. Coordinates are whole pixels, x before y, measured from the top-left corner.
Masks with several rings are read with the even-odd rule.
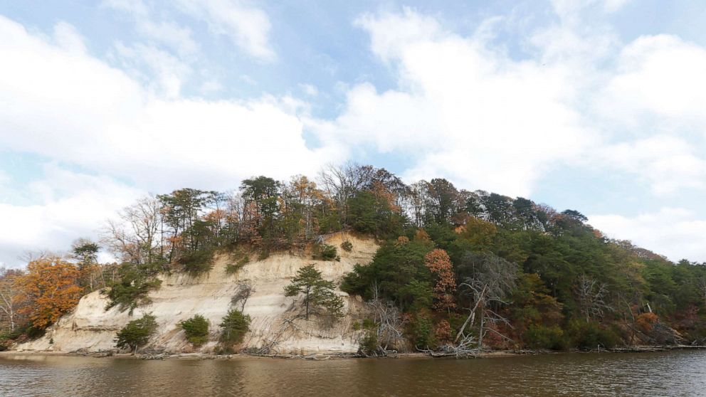
[[[589,223],[611,238],[631,240],[670,260],[706,260],[706,219],[684,208],[661,208],[635,217],[589,216]]]

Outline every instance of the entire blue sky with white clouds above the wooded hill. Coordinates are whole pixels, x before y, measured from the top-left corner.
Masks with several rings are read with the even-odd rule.
[[[706,8],[0,0],[0,265],[149,193],[347,161],[706,262]]]

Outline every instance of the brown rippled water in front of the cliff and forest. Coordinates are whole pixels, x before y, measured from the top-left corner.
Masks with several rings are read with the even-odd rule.
[[[0,396],[706,396],[706,351],[142,361],[0,356]]]

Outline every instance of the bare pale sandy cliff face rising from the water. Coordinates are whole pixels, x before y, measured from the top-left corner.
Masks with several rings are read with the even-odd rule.
[[[351,252],[340,248],[343,240],[352,243]],[[144,313],[151,313],[157,317],[159,329],[149,347],[174,352],[212,351],[218,339],[218,324],[231,307],[231,298],[239,286],[248,283],[254,291],[243,312],[250,315],[252,322],[243,348],[258,348],[269,344],[273,346],[272,352],[279,354],[357,351],[357,332],[352,329],[352,322],[357,319],[362,306],[359,300],[339,291],[344,296],[344,311],[347,314],[331,327],[325,327],[315,319],[306,321],[297,318],[300,313],[299,306],[295,305],[297,298],[284,296],[285,285],[305,265],[315,263],[325,279],[339,281],[344,274],[353,270],[356,263],[369,263],[378,248],[374,240],[342,233],[332,235],[326,243],[337,247],[340,262],[274,254],[265,260],[244,265],[233,275],[227,275],[225,268],[228,258],[219,257],[214,268],[199,277],[186,274],[160,276],[162,286],[149,294],[152,303],[135,309],[132,317],[127,310],[120,312],[117,307],[105,311],[105,297],[98,291],[92,292],[80,300],[73,312],[66,314],[48,329],[44,337],[21,344],[16,349],[65,352],[114,349],[115,334],[127,322]],[[211,324],[210,342],[198,350],[186,342],[184,332],[177,325],[194,314],[203,315]]]

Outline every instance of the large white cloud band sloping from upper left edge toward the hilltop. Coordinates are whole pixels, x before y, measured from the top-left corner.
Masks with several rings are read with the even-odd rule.
[[[308,149],[288,97],[165,98],[89,55],[0,18],[0,147],[36,152],[164,191],[232,188],[253,173],[312,174],[337,159]],[[287,166],[283,166],[287,164]]]

